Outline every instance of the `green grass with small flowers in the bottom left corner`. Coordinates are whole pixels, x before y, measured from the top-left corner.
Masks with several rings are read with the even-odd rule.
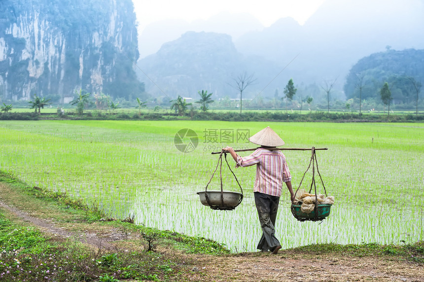
[[[1,281],[179,281],[180,270],[190,265],[187,258],[180,261],[152,251],[90,250],[73,239],[49,242],[34,227],[10,221],[1,210],[0,227]]]

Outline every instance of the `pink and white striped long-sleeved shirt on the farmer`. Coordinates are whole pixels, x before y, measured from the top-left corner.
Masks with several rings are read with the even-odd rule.
[[[283,182],[291,181],[284,154],[278,150],[259,148],[250,156],[237,156],[236,168],[253,164],[256,164],[253,191],[280,197]]]

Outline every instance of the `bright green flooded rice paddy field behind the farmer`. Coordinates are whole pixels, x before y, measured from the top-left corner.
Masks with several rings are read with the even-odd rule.
[[[327,195],[335,196],[327,219],[299,222],[283,187],[276,223],[283,248],[424,239],[424,124],[7,121],[0,122],[0,169],[31,186],[99,203],[112,217],[134,214],[138,224],[254,251],[262,232],[253,201],[255,168],[235,169],[227,157],[245,195],[234,211],[211,210],[196,192],[205,190],[216,166],[212,151],[254,148],[247,136],[268,125],[284,147],[328,148],[317,151],[318,168]],[[197,139],[179,131],[184,128]],[[298,188],[311,152],[284,154]],[[225,162],[222,176],[225,190],[240,191]],[[308,172],[301,188],[309,189],[311,179]],[[208,190],[220,189],[219,183],[217,172]]]

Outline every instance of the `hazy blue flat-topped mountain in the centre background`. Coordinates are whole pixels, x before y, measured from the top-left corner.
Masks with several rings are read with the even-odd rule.
[[[261,57],[239,53],[230,35],[194,31],[162,45],[156,54],[141,59],[139,66],[146,92],[165,99],[177,95],[198,98],[199,90],[208,90],[214,97],[235,98],[238,92],[231,85],[244,73],[257,79],[245,92],[245,97],[254,96],[281,70]]]

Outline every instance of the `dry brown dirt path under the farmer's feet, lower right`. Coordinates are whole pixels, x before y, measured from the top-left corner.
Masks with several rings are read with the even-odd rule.
[[[200,259],[208,281],[424,281],[424,268],[417,263],[366,257],[302,258],[271,254],[239,254]],[[194,275],[192,281],[202,279]]]

